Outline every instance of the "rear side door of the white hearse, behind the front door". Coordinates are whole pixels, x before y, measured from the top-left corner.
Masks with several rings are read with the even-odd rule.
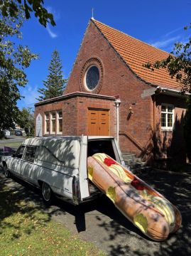
[[[26,146],[26,152],[23,157],[23,166],[21,166],[21,176],[31,183],[37,183],[38,166],[34,163],[38,146]]]

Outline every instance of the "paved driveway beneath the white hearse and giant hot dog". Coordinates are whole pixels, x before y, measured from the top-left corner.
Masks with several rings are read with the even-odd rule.
[[[21,196],[32,198],[54,220],[80,238],[94,242],[107,255],[191,255],[191,174],[150,171],[139,176],[163,193],[182,213],[182,227],[165,242],[153,242],[142,235],[104,196],[80,207],[58,200],[55,206],[45,208],[38,189],[17,179],[7,180],[0,171],[1,182],[16,187]]]

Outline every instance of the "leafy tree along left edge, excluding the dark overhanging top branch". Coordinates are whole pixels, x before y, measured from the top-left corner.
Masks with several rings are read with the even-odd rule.
[[[16,45],[11,38],[21,38],[20,28],[23,24],[23,11],[18,16],[1,16],[0,20],[0,130],[14,127],[17,122],[18,107],[16,102],[21,99],[18,86],[26,85],[25,68],[36,59],[27,46]]]

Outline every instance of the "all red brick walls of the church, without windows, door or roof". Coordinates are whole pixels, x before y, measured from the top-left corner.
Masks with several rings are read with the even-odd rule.
[[[97,63],[99,85],[89,91],[84,86],[84,73],[87,67]],[[87,134],[88,108],[109,110],[109,134],[116,137],[116,106],[114,97],[121,100],[119,106],[119,145],[124,152],[136,153],[148,162],[153,159],[166,159],[169,156],[185,159],[182,138],[182,117],[185,111],[181,97],[148,95],[142,97],[151,84],[133,73],[119,56],[107,38],[92,21],[84,35],[79,53],[67,82],[63,98],[53,103],[36,105],[36,115],[50,110],[62,109],[64,135]],[[74,92],[87,95],[70,97]],[[92,97],[90,97],[92,95]],[[94,95],[100,95],[95,97]],[[111,97],[104,99],[101,95]],[[163,132],[160,127],[161,103],[175,106],[175,129]],[[43,121],[44,123],[44,121]],[[43,128],[44,129],[44,128]],[[177,145],[182,146],[177,146]],[[180,153],[182,150],[182,154]],[[181,156],[180,156],[181,155]]]

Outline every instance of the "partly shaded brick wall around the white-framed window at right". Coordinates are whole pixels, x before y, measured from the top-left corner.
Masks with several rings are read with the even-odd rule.
[[[174,127],[172,131],[161,129],[161,104],[174,106]],[[185,140],[183,136],[183,119],[186,105],[182,97],[158,95],[155,100],[155,155],[156,159],[167,159],[171,165],[185,162]]]

